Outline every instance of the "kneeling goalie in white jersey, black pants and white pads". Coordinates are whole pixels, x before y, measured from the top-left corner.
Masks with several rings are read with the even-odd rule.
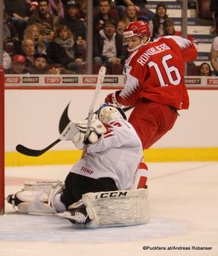
[[[25,183],[7,201],[20,213],[56,214],[87,227],[146,224],[149,221],[146,166],[135,129],[121,108],[104,104],[88,126],[74,120],[60,134],[83,157],[65,182]]]

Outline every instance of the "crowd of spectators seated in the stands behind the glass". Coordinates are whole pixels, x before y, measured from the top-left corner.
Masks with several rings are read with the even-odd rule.
[[[18,70],[20,73],[84,73],[82,67],[87,61],[88,47],[87,0],[4,0],[3,3],[5,73]],[[123,45],[123,30],[135,20],[149,24],[151,40],[164,35],[181,36],[181,32],[175,31],[164,2],[157,2],[156,12],[152,13],[145,0],[94,0],[94,69],[105,65],[107,73],[116,70],[122,73],[120,67],[128,55]],[[211,65],[216,68],[213,62]]]

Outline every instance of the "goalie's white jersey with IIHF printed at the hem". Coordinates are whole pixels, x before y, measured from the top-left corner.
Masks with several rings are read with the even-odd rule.
[[[86,177],[111,177],[118,189],[129,189],[141,162],[141,140],[129,122],[116,119],[106,124],[106,133],[77,161],[71,172]]]

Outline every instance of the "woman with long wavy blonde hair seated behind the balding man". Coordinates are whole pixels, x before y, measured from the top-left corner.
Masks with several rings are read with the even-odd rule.
[[[34,42],[35,53],[45,53],[46,45],[43,43],[43,35],[40,34],[43,27],[38,24],[32,24],[26,27],[24,31],[24,39],[32,39]]]

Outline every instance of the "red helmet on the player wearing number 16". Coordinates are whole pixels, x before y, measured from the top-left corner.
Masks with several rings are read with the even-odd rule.
[[[134,36],[137,36],[139,38],[143,38],[146,36],[147,38],[150,38],[151,31],[149,26],[142,20],[130,22],[123,32],[123,37],[129,38]]]

